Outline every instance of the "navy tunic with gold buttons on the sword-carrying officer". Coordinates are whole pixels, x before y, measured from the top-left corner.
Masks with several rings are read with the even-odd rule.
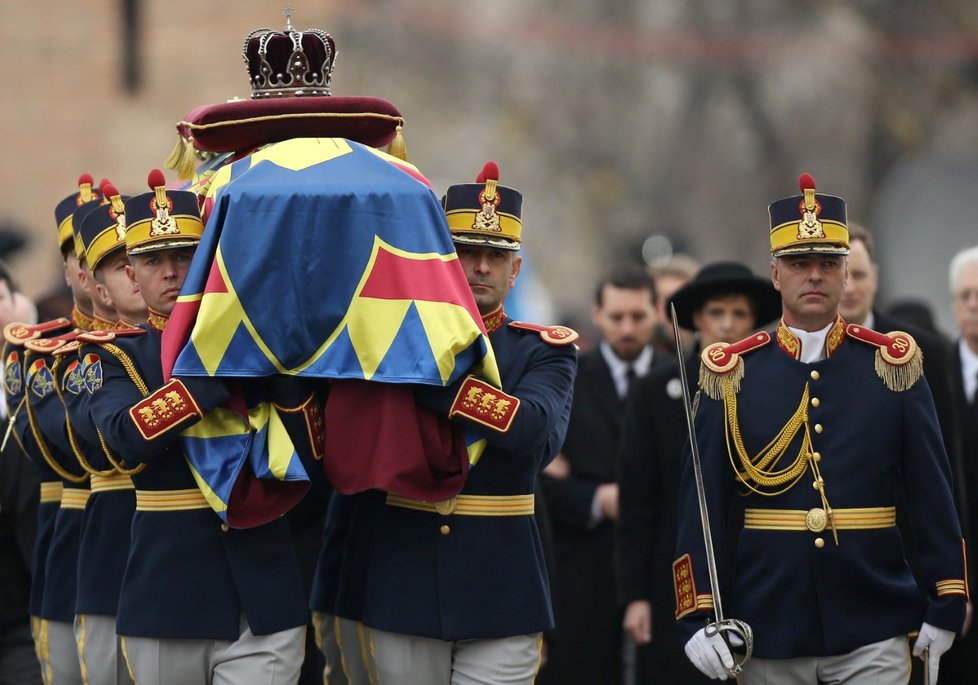
[[[905,635],[921,622],[959,631],[965,598],[938,590],[963,579],[961,531],[951,496],[950,469],[930,390],[924,378],[910,389],[886,387],[875,370],[876,347],[844,337],[828,358],[802,363],[776,342],[742,356],[737,423],[750,455],[778,434],[808,386],[808,428],[825,495],[834,509],[893,507],[901,482],[913,525],[926,595],[918,590],[895,526],[839,530],[740,528],[745,508],[822,507],[811,468],[786,492],[746,492],[734,478],[724,428],[724,403],[700,392],[696,434],[703,463],[713,541],[726,617],[754,630],[754,655],[793,658],[844,654]],[[802,431],[804,432],[804,431]],[[799,452],[801,437],[771,469]],[[734,457],[735,463],[737,458]],[[710,583],[687,445],[679,499],[677,557],[692,559],[696,593]],[[727,544],[725,531],[734,547]],[[824,546],[816,545],[816,537]],[[681,619],[687,639],[708,612]],[[711,613],[711,612],[709,612]]]

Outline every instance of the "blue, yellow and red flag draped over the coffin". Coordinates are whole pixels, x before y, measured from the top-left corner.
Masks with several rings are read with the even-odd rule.
[[[164,332],[166,378],[283,374],[370,381],[375,394],[385,384],[444,386],[468,373],[500,384],[444,212],[411,165],[343,139],[295,139],[208,169],[201,188],[207,224]],[[410,418],[409,395],[391,396]],[[375,403],[367,404],[369,420]],[[287,436],[274,409],[260,411],[263,435],[218,411],[184,439],[201,489],[225,516],[241,472],[301,478],[291,443],[277,446]],[[229,440],[238,447],[227,450]],[[484,442],[466,435],[463,444],[475,463]],[[222,450],[237,455],[230,467]],[[384,488],[385,478],[357,482]]]

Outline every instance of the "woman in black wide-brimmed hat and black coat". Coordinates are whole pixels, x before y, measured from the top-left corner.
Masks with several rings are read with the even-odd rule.
[[[702,346],[740,340],[781,313],[770,281],[734,262],[703,267],[670,302],[678,325],[697,333],[697,345],[684,359],[691,395]],[[709,682],[683,656],[672,611],[676,494],[687,439],[681,383],[673,360],[636,383],[618,450],[620,596],[625,630],[639,645],[640,684]]]

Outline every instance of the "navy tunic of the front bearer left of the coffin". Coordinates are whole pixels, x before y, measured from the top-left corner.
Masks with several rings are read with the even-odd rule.
[[[160,332],[116,339],[150,390],[163,385]],[[91,398],[91,416],[109,447],[133,476],[137,490],[197,488],[174,430],[146,440],[129,408],[143,399],[123,364],[88,346],[102,361],[103,383]],[[208,389],[209,387],[209,389]],[[220,384],[195,392],[202,408],[226,398]],[[208,394],[209,393],[209,396]],[[223,393],[223,394],[222,394]],[[181,424],[181,430],[190,425]],[[235,640],[241,614],[256,635],[305,625],[308,612],[289,527],[284,519],[247,530],[227,529],[210,509],[136,511],[116,630],[121,635]]]

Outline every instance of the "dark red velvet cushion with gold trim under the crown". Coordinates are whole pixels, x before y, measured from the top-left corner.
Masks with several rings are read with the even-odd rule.
[[[290,138],[346,138],[371,147],[394,139],[404,118],[386,100],[373,97],[293,97],[238,100],[192,110],[177,131],[194,147],[232,152]]]

